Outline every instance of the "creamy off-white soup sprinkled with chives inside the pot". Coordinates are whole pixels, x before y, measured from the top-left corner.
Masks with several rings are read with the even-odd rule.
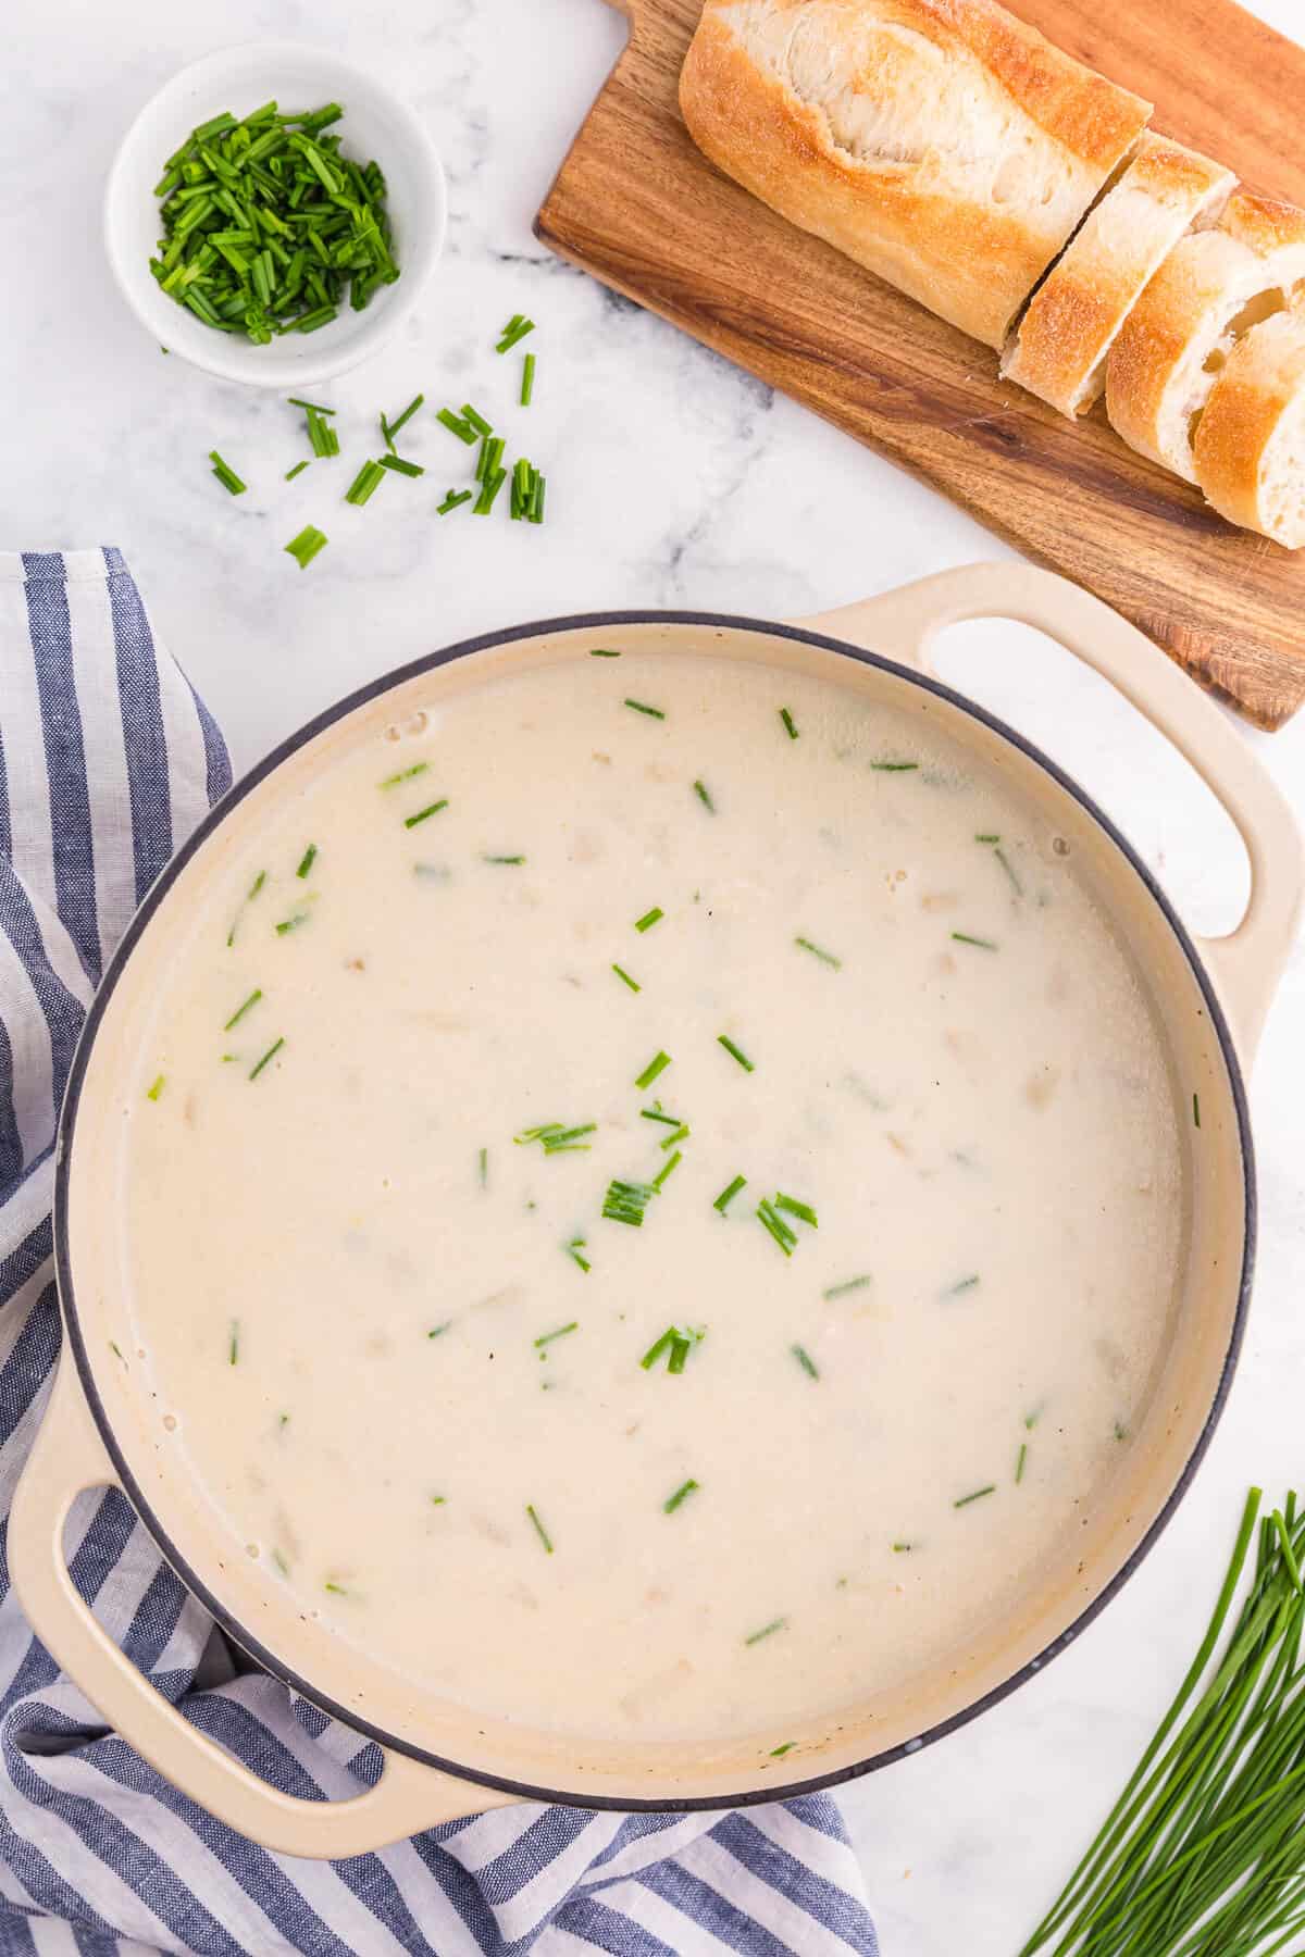
[[[125,1114],[137,1350],[237,1554],[542,1728],[939,1660],[1176,1305],[1178,1090],[1047,818],[920,716],[620,638],[284,798]]]

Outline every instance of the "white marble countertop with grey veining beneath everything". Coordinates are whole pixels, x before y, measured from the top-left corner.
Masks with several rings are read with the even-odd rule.
[[[1299,0],[1258,0],[1289,27]],[[1297,20],[1299,25],[1299,20]],[[800,616],[1002,546],[939,497],[771,395],[661,321],[550,258],[530,235],[622,41],[599,0],[172,0],[27,6],[6,25],[0,313],[6,548],[119,544],[155,618],[221,718],[237,767],[350,687],[432,646],[526,618],[628,605]],[[317,37],[387,72],[430,119],[452,202],[444,264],[372,366],[331,384],[346,454],[417,389],[507,409],[518,362],[491,342],[540,325],[532,458],[546,528],[430,517],[464,456],[427,415],[421,485],[344,509],[297,417],[164,360],[110,288],[98,194],[135,108],[219,41]],[[229,499],[217,446],[254,485]],[[331,548],[299,573],[305,523]],[[1209,796],[1137,716],[1012,626],[967,628],[949,677],[1041,740],[1094,791],[1197,928],[1237,914],[1238,853]],[[1305,714],[1248,734],[1305,820]],[[1254,1078],[1262,1237],[1244,1358],[1195,1487],[1105,1615],[1039,1679],[908,1763],[847,1789],[886,1957],[1013,1957],[1172,1693],[1246,1483],[1305,1472],[1305,957]]]

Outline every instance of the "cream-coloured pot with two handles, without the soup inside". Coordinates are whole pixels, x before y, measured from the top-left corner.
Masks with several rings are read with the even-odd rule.
[[[1242,832],[1252,892],[1240,926],[1199,947],[1111,828],[1045,755],[929,675],[927,648],[945,624],[1021,618],[1058,638],[1127,695],[1188,755]],[[399,1679],[344,1646],[327,1624],[282,1601],[245,1558],[229,1558],[211,1509],[164,1464],[157,1413],[137,1372],[106,1364],[125,1344],[127,1299],[102,1247],[112,1239],[123,1055],[147,1010],[174,932],[221,875],[268,806],[311,779],[348,740],[383,726],[470,677],[526,661],[583,656],[595,626],[622,644],[693,658],[761,661],[835,679],[873,701],[927,714],[1002,769],[1092,867],[1098,894],[1160,1002],[1174,1072],[1199,1090],[1201,1149],[1186,1221],[1186,1286],[1160,1386],[1137,1442],[1094,1505],[1088,1526],[1057,1550],[1017,1609],[970,1636],[965,1661],[873,1691],[812,1722],[806,1773],[781,1787],[755,1746],[565,1744],[556,1734],[473,1716],[419,1681]],[[430,656],[374,683],[286,742],[202,826],[151,890],[88,1016],[63,1112],[57,1182],[59,1288],[67,1350],[31,1462],[14,1501],[10,1570],[31,1624],[92,1703],[147,1759],[198,1802],[268,1847],[352,1855],[434,1822],[515,1798],[583,1806],[677,1808],[771,1800],[884,1765],[992,1705],[1047,1661],[1119,1587],[1154,1542],[1199,1460],[1242,1333],[1254,1237],[1254,1178],[1240,1065],[1250,1059],[1301,902],[1291,818],[1248,748],[1182,673],[1096,599],[1045,571],[974,566],[804,624],[677,613],[563,618],[499,632]],[[184,1282],[184,1272],[178,1272]],[[121,1485],[182,1581],[270,1671],[385,1750],[380,1783],[342,1802],[276,1793],[196,1732],[123,1658],[78,1599],[61,1550],[80,1489]],[[235,1564],[235,1566],[233,1566]],[[773,1771],[773,1769],[771,1769]]]

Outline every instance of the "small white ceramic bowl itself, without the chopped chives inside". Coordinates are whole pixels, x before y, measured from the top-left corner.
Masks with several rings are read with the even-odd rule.
[[[209,115],[223,110],[248,115],[270,100],[286,110],[342,104],[344,117],[335,129],[344,153],[360,162],[374,157],[385,172],[399,278],[380,286],[360,313],[344,303],[317,333],[284,333],[256,346],[205,327],[170,299],[149,260],[162,229],[155,184],[164,159]],[[209,374],[250,387],[307,387],[374,354],[421,297],[444,245],[444,170],[419,115],[364,68],[295,41],[225,47],[174,74],[127,129],[104,192],[110,266],[149,337]]]

